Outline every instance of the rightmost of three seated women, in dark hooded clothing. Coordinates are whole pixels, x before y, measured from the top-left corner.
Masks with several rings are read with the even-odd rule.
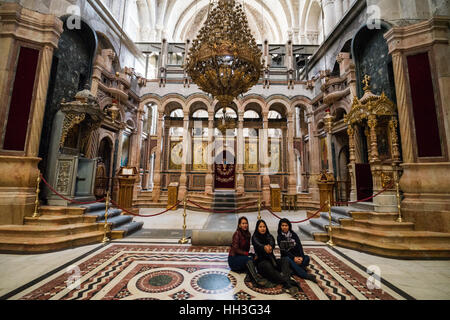
[[[278,223],[278,246],[282,257],[289,260],[289,264],[295,274],[302,279],[316,282],[316,277],[308,274],[306,267],[310,258],[303,252],[302,243],[298,235],[292,231],[292,224],[288,219],[281,219]]]

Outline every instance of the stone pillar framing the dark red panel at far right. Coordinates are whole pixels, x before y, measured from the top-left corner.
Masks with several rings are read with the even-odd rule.
[[[450,72],[448,68],[449,17],[433,17],[417,24],[393,27],[385,34],[392,55],[398,120],[402,144],[403,218],[416,230],[450,232]],[[443,156],[419,158],[414,129],[407,56],[427,53],[433,75],[433,91],[443,141]]]

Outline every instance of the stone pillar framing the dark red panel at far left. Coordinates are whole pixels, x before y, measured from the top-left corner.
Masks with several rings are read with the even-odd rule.
[[[15,75],[17,52],[21,46],[40,52],[25,147],[17,152],[0,149],[0,224],[23,224],[23,218],[34,212],[38,163],[41,160],[37,156],[48,82],[53,51],[62,32],[62,22],[54,15],[28,10],[16,3],[0,4],[0,128],[3,130],[8,121],[15,76],[20,76]],[[0,130],[1,137],[5,135],[3,130]]]

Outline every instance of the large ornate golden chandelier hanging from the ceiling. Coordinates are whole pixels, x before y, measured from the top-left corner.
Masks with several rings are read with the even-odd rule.
[[[241,4],[219,0],[211,10],[213,5],[189,50],[185,70],[201,90],[226,107],[258,82],[262,52]]]

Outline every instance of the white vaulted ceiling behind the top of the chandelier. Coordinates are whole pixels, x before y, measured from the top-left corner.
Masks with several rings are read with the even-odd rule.
[[[113,5],[118,0],[103,0]],[[123,0],[122,0],[123,1]],[[136,41],[184,42],[194,39],[206,20],[208,6],[217,0],[129,1],[127,19],[133,22]],[[236,0],[244,5],[257,42],[304,42],[307,32],[319,32],[320,0]],[[319,9],[318,9],[319,8]],[[135,15],[135,19],[132,16]],[[130,26],[128,27],[128,29]]]

